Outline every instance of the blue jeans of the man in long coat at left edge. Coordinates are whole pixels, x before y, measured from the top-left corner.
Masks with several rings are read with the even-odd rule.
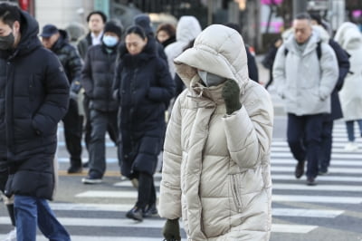
[[[45,199],[14,195],[14,214],[18,241],[35,241],[36,224],[49,240],[71,240]]]

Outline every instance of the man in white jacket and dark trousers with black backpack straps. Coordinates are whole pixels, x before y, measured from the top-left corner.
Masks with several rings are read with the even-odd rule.
[[[295,17],[293,34],[279,48],[272,72],[288,113],[288,144],[298,161],[295,177],[304,174],[308,160],[307,185],[316,185],[323,115],[330,113],[338,63],[329,44],[312,31],[309,14]]]

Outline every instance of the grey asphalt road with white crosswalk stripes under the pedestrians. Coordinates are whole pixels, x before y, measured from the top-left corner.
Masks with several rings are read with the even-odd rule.
[[[308,187],[305,177],[293,177],[295,161],[285,141],[285,116],[276,116],[271,148],[273,181],[271,241],[361,241],[362,240],[362,141],[357,152],[343,150],[347,134],[342,122],[334,130],[332,166],[329,175]],[[120,178],[116,148],[107,140],[107,173],[103,183],[84,185],[81,175],[67,175],[68,153],[62,125],[59,130],[59,185],[51,206],[72,240],[162,240],[165,220],[159,217],[136,223],[125,213],[136,201],[137,191]],[[83,151],[84,161],[87,153]],[[157,188],[160,174],[155,175]],[[0,240],[12,229],[4,206],[0,206]],[[186,234],[183,232],[183,240]],[[39,233],[38,240],[45,240]]]

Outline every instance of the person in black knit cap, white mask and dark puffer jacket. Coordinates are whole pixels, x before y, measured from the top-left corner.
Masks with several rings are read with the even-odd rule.
[[[100,183],[106,170],[106,131],[118,136],[118,102],[112,98],[112,86],[117,59],[121,26],[108,22],[104,27],[102,43],[91,46],[84,60],[81,85],[90,98],[90,163],[86,184]],[[115,141],[117,144],[117,141]]]

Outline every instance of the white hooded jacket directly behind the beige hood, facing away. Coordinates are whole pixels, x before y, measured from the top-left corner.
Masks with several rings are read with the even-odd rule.
[[[176,42],[167,45],[165,53],[167,55],[168,69],[171,77],[175,78],[176,70],[174,59],[182,53],[188,43],[195,40],[201,33],[201,26],[195,16],[182,16],[176,26]]]

